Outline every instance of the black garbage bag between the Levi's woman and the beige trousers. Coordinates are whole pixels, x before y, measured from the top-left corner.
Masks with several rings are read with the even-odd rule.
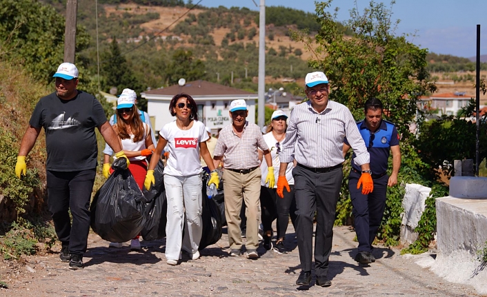
[[[208,183],[208,174],[202,176],[203,180],[203,207],[202,221],[203,234],[201,234],[201,241],[199,242],[199,250],[217,243],[221,238],[221,212],[213,199],[208,199],[206,195],[206,183]]]

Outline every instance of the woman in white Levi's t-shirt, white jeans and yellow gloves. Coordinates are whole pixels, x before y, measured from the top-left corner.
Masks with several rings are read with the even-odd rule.
[[[164,167],[164,186],[168,201],[166,260],[169,265],[177,265],[181,248],[193,260],[199,258],[199,241],[203,232],[200,153],[211,170],[208,185],[215,183],[218,187],[219,178],[206,146],[208,133],[205,125],[198,121],[195,100],[188,94],[177,94],[169,103],[169,111],[172,116],[176,116],[176,120],[164,125],[159,132],[157,149],[150,160],[144,185],[146,189],[150,189],[154,183],[154,168],[163,148],[168,145],[169,158]],[[186,224],[183,221],[185,217]]]

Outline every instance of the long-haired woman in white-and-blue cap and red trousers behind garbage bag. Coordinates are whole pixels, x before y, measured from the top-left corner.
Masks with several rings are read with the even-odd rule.
[[[137,106],[135,105],[134,96],[121,94],[117,101],[117,122],[113,129],[119,136],[123,152],[125,152],[130,165],[128,169],[134,176],[137,185],[143,189],[143,181],[147,174],[146,157],[150,156],[155,150],[152,137],[150,136],[150,127],[143,123]],[[110,168],[110,155],[105,154],[103,158],[103,176],[108,178],[113,170]],[[121,243],[110,243],[110,247],[122,247]],[[130,249],[139,250],[139,236],[132,239]]]

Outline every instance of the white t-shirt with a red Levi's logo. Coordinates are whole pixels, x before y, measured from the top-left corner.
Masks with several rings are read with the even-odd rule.
[[[199,143],[208,139],[203,123],[194,121],[190,130],[181,130],[176,121],[172,121],[162,127],[159,135],[168,141],[169,158],[164,174],[192,176],[201,172]]]

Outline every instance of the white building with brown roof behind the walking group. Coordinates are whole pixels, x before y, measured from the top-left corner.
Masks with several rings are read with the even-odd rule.
[[[169,112],[169,103],[172,97],[179,93],[186,93],[195,99],[199,121],[210,127],[213,134],[216,134],[219,128],[232,123],[228,112],[230,102],[236,99],[246,101],[247,121],[255,123],[257,94],[199,80],[190,81],[183,86],[171,85],[168,88],[148,90],[141,93],[141,97],[147,99],[147,112],[156,132],[160,131],[166,123],[175,120]]]

